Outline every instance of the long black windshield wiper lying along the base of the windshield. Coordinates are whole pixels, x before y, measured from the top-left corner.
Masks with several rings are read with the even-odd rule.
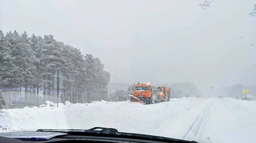
[[[114,128],[102,128],[94,127],[88,130],[81,129],[38,129],[37,132],[62,132],[68,133],[69,135],[75,136],[102,136],[102,137],[118,137],[118,138],[132,138],[132,139],[142,139],[151,141],[164,141],[164,142],[184,142],[184,143],[197,143],[196,141],[180,140],[175,138],[152,136],[146,134],[136,134],[136,133],[125,133],[118,132]]]

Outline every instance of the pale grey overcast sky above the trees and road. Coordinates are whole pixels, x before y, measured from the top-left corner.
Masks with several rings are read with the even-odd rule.
[[[255,85],[256,1],[201,3],[0,0],[0,29],[52,34],[100,58],[111,82],[189,82],[204,93]]]

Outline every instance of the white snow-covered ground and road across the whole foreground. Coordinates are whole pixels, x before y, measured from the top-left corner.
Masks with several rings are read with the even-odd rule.
[[[255,142],[256,102],[191,97],[151,105],[102,101],[2,109],[0,125],[7,128],[0,132],[101,126],[199,142]]]

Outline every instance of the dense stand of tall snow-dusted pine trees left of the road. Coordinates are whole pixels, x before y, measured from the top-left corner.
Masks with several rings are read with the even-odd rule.
[[[51,95],[51,81],[57,68],[64,75],[64,95],[62,101],[73,103],[87,102],[87,89],[90,89],[90,101],[105,100],[110,74],[98,58],[90,54],[83,56],[77,48],[65,45],[53,38],[53,35],[32,35],[26,32],[0,31],[0,87],[30,88],[37,96],[39,88]],[[17,71],[16,75],[13,70]],[[10,72],[9,72],[10,71]],[[37,78],[34,78],[37,77]],[[89,88],[88,88],[89,81]],[[48,87],[47,87],[48,86]],[[27,93],[26,93],[27,96]]]

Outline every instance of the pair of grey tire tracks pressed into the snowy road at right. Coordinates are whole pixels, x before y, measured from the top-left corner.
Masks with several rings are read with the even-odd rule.
[[[184,140],[190,136],[193,136],[193,138],[197,137],[197,134],[200,132],[201,127],[203,126],[203,123],[204,123],[206,117],[209,115],[211,105],[212,105],[212,103],[210,105],[208,105],[208,107],[205,110],[203,110],[203,112],[191,124],[191,126],[189,127],[187,132],[182,137]]]

